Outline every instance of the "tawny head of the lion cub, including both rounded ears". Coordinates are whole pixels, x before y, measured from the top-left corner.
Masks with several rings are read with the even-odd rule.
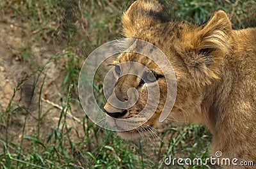
[[[139,0],[124,13],[122,24],[126,38],[152,43],[161,49],[172,64],[177,80],[177,95],[168,119],[199,122],[211,127],[212,117],[205,113],[202,105],[207,104],[204,103],[207,95],[205,90],[220,78],[222,60],[229,50],[228,38],[232,28],[225,12],[214,12],[206,24],[197,27],[187,22],[166,21],[161,4],[154,0]],[[131,48],[143,47],[133,43]],[[124,62],[138,62],[147,69],[136,70],[132,64],[124,66]],[[123,123],[109,118],[111,125],[121,129],[118,134],[122,138],[131,139],[151,131],[159,122],[164,105],[168,105],[165,76],[170,74],[163,73],[156,62],[147,56],[132,52],[120,54],[113,64],[114,74],[118,77],[113,94],[119,101],[125,102],[133,98],[136,99],[136,103],[129,108],[116,108],[106,103],[104,110],[108,117],[116,119],[134,117],[131,121]],[[122,76],[122,72],[129,70],[140,72],[140,77],[129,73]],[[160,96],[157,108],[152,110],[153,114],[147,119],[147,112],[142,115],[140,112],[145,107],[147,99],[154,99],[154,94],[148,97],[148,86],[152,85],[159,87]],[[136,94],[132,95],[130,89],[136,89]],[[143,119],[147,119],[147,122],[129,129]]]

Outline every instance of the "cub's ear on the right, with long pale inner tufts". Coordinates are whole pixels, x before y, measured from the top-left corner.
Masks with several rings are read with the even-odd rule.
[[[200,84],[218,78],[223,57],[228,54],[231,22],[224,11],[216,11],[209,21],[182,37],[184,62]]]

